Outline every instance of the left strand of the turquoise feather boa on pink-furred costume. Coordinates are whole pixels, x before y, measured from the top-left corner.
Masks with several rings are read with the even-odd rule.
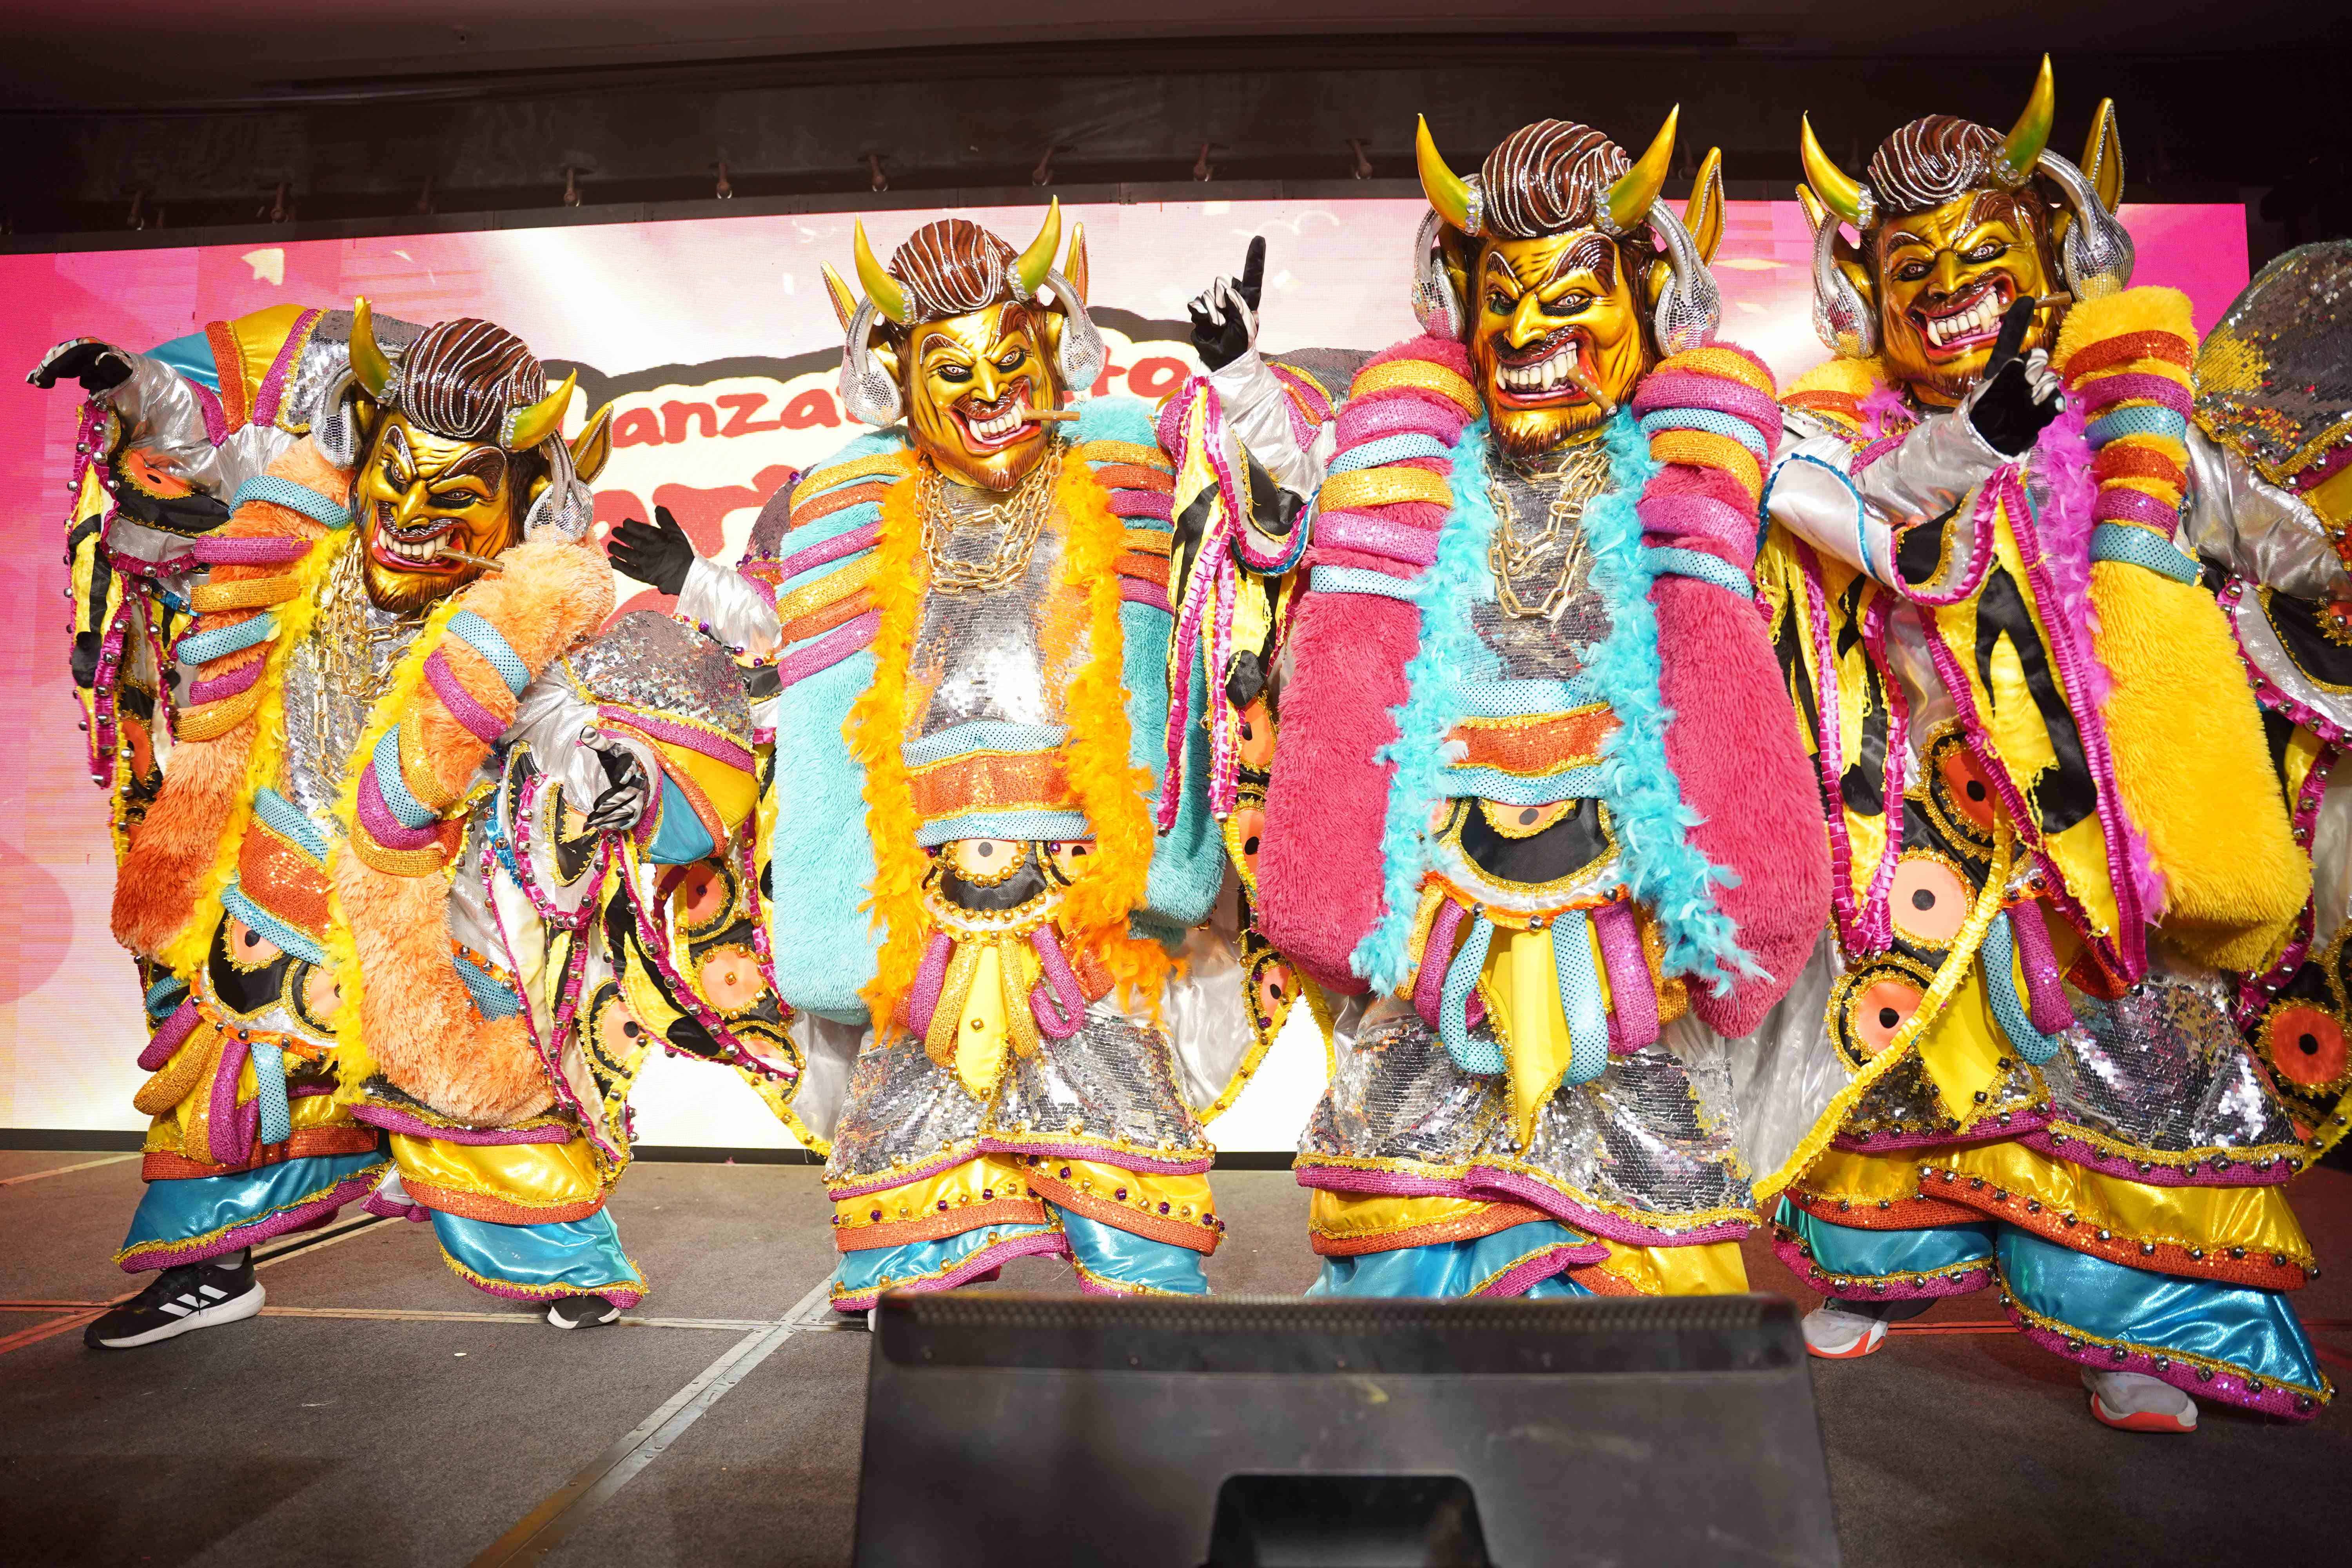
[[[1484,418],[1465,425],[1454,447],[1451,487],[1454,510],[1437,531],[1437,559],[1414,578],[1421,649],[1404,665],[1406,698],[1390,710],[1397,738],[1381,748],[1381,762],[1395,764],[1388,823],[1381,827],[1381,919],[1348,954],[1348,969],[1376,992],[1397,990],[1414,971],[1414,914],[1421,910],[1421,877],[1430,865],[1430,806],[1446,792],[1446,733],[1458,705],[1454,686],[1484,654],[1470,630],[1470,599],[1494,590],[1486,569],[1494,503],[1486,498]]]

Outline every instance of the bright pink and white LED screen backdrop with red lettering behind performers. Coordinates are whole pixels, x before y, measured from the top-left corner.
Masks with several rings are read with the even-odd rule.
[[[1112,348],[1091,390],[1174,390],[1192,369],[1183,301],[1240,270],[1256,233],[1268,237],[1268,348],[1406,336],[1421,212],[1406,200],[1068,209],[1087,226]],[[887,256],[936,216],[948,214],[884,212],[868,233]],[[1021,244],[1042,209],[962,216]],[[2211,327],[2246,282],[2244,212],[2126,207],[2124,219],[2138,282],[2185,289],[2199,329]],[[1729,205],[1715,259],[1724,334],[1783,378],[1823,355],[1809,259],[1795,202]],[[616,400],[602,520],[668,505],[703,550],[731,555],[783,473],[854,435],[833,393],[840,329],[821,261],[847,270],[849,216],[0,256],[0,1126],[139,1126],[136,994],[106,933],[113,851],[82,766],[59,597],[78,397],[24,383],[42,350],[71,336],[151,348],[263,306],[348,306],[353,294],[412,322],[482,315],[543,357],[583,367],[583,383]],[[586,400],[574,421],[583,414]],[[708,1077],[701,1086],[720,1093]],[[1310,1079],[1301,1070],[1256,1086],[1218,1143],[1289,1147]],[[713,1110],[703,1095],[659,1095],[644,1112],[649,1143],[743,1143],[760,1131],[741,1107]]]

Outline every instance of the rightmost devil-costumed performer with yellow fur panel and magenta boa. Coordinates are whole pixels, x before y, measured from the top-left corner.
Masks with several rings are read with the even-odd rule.
[[[1851,1077],[1780,1253],[1832,1295],[1816,1354],[1997,1286],[2110,1425],[2300,1420],[2314,1152],[2230,971],[2281,957],[2310,865],[2183,550],[2241,559],[2246,475],[2190,442],[2187,299],[2126,287],[2112,108],[2079,167],[2049,125],[2044,63],[2006,136],[1915,120],[1867,183],[1804,139],[1839,357],[1785,400],[1757,576],[1837,863],[1788,1009]]]

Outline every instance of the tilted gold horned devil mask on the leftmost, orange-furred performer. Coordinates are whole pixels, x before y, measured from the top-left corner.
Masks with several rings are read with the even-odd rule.
[[[367,597],[419,611],[522,538],[555,482],[548,447],[574,378],[550,393],[522,339],[475,320],[428,327],[395,367],[365,299],[350,313],[350,369],[365,395],[353,512]],[[581,482],[604,465],[609,416],[600,409],[564,449]]]

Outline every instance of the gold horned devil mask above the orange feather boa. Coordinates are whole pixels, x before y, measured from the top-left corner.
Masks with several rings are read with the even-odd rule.
[[[957,484],[1018,484],[1051,442],[1035,411],[1058,409],[1068,388],[1089,386],[1101,367],[1101,339],[1084,313],[1084,233],[1073,226],[1068,275],[1054,270],[1058,249],[1061,202],[1025,252],[978,223],[943,219],[917,228],[887,268],[858,223],[863,301],[826,268],[849,331],[847,409],[868,423],[903,414],[915,449]],[[1040,301],[1049,284],[1051,306]]]

